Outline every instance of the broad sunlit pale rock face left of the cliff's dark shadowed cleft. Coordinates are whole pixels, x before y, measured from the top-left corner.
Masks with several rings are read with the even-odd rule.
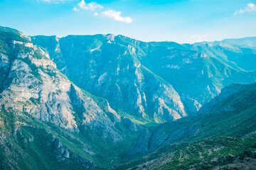
[[[11,86],[3,91],[1,103],[6,108],[27,112],[42,121],[54,123],[71,131],[78,131],[66,94],[70,83],[60,76],[50,77],[41,69],[38,72],[32,71],[28,64],[21,61],[22,59],[30,61],[29,57],[32,56],[17,58],[12,62],[8,77],[11,80]],[[54,69],[50,70],[52,74],[55,72]]]

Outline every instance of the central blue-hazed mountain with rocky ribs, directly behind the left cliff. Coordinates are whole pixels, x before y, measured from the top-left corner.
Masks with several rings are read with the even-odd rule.
[[[121,115],[156,123],[187,115],[171,84],[146,69],[129,45],[114,42],[114,35],[70,35],[55,42],[54,48],[48,41],[43,47],[58,69],[85,91],[107,98]]]

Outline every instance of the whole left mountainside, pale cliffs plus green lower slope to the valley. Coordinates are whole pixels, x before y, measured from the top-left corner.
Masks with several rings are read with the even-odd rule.
[[[106,99],[75,86],[28,37],[6,28],[0,33],[1,167],[92,169],[117,164],[140,126],[121,119]]]

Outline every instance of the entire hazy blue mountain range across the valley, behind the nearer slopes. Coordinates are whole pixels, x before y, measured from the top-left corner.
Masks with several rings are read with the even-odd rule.
[[[212,55],[211,48],[218,47],[207,45],[202,50],[196,45],[141,42],[122,35],[31,39],[45,47],[58,69],[80,88],[107,98],[122,115],[142,121],[161,123],[196,113],[224,86],[256,79],[255,72],[224,60],[223,53]],[[255,50],[249,53],[254,60]]]

